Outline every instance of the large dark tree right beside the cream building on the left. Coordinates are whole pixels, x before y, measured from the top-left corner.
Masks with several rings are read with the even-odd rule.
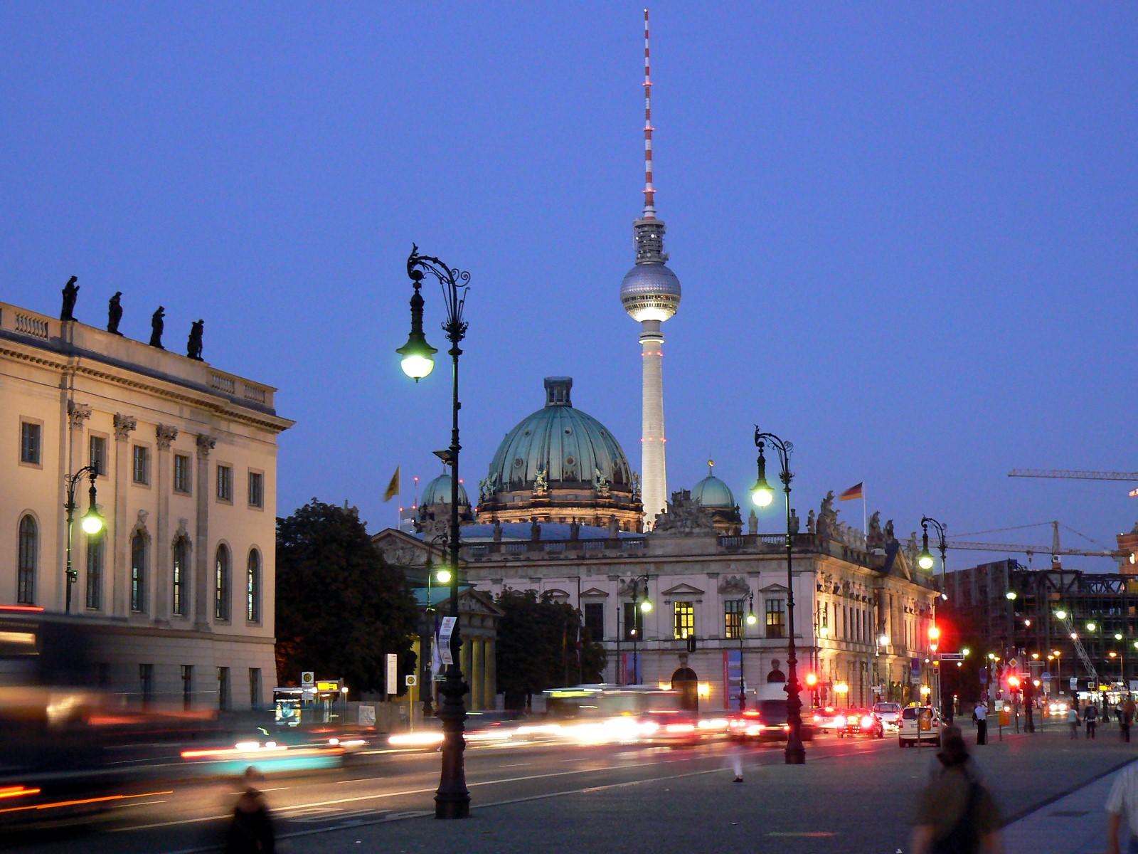
[[[406,578],[387,566],[354,510],[313,499],[277,519],[277,673],[344,678],[352,691],[385,690],[385,658],[414,672],[418,608]]]

